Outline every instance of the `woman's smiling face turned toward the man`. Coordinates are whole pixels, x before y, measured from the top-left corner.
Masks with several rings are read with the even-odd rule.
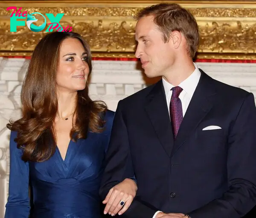
[[[83,90],[89,74],[87,52],[76,38],[66,38],[60,48],[59,66],[56,75],[59,92]]]

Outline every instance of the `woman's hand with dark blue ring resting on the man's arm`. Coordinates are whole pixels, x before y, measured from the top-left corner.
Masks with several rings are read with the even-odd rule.
[[[137,184],[134,180],[125,179],[109,190],[102,203],[106,203],[104,214],[112,216],[123,214],[131,205],[137,192]]]

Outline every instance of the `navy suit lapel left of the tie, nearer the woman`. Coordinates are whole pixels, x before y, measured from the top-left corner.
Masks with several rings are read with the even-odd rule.
[[[162,80],[155,84],[146,100],[145,111],[159,141],[170,157],[174,142]]]

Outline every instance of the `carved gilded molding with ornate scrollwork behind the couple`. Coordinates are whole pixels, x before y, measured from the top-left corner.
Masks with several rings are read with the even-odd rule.
[[[33,7],[31,3],[33,2]],[[28,13],[64,13],[61,26],[72,26],[89,42],[97,57],[134,57],[134,15],[157,1],[6,1],[0,3],[0,55],[31,55],[46,32],[17,26],[10,32],[8,6]],[[160,1],[158,1],[160,2]],[[179,3],[179,1],[176,1]],[[200,29],[197,58],[256,59],[256,3],[253,1],[180,1],[195,15]],[[38,16],[37,25],[43,20]],[[47,21],[48,20],[48,17]],[[40,23],[41,22],[41,23]],[[49,23],[49,22],[47,22]],[[45,28],[46,30],[46,28]]]

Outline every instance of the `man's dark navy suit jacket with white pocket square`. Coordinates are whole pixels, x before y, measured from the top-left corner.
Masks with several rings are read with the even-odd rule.
[[[216,125],[221,129],[202,131]],[[201,78],[176,140],[163,84],[119,102],[100,195],[125,178],[138,191],[125,218],[157,210],[191,218],[241,218],[256,205],[256,107],[252,93]]]

